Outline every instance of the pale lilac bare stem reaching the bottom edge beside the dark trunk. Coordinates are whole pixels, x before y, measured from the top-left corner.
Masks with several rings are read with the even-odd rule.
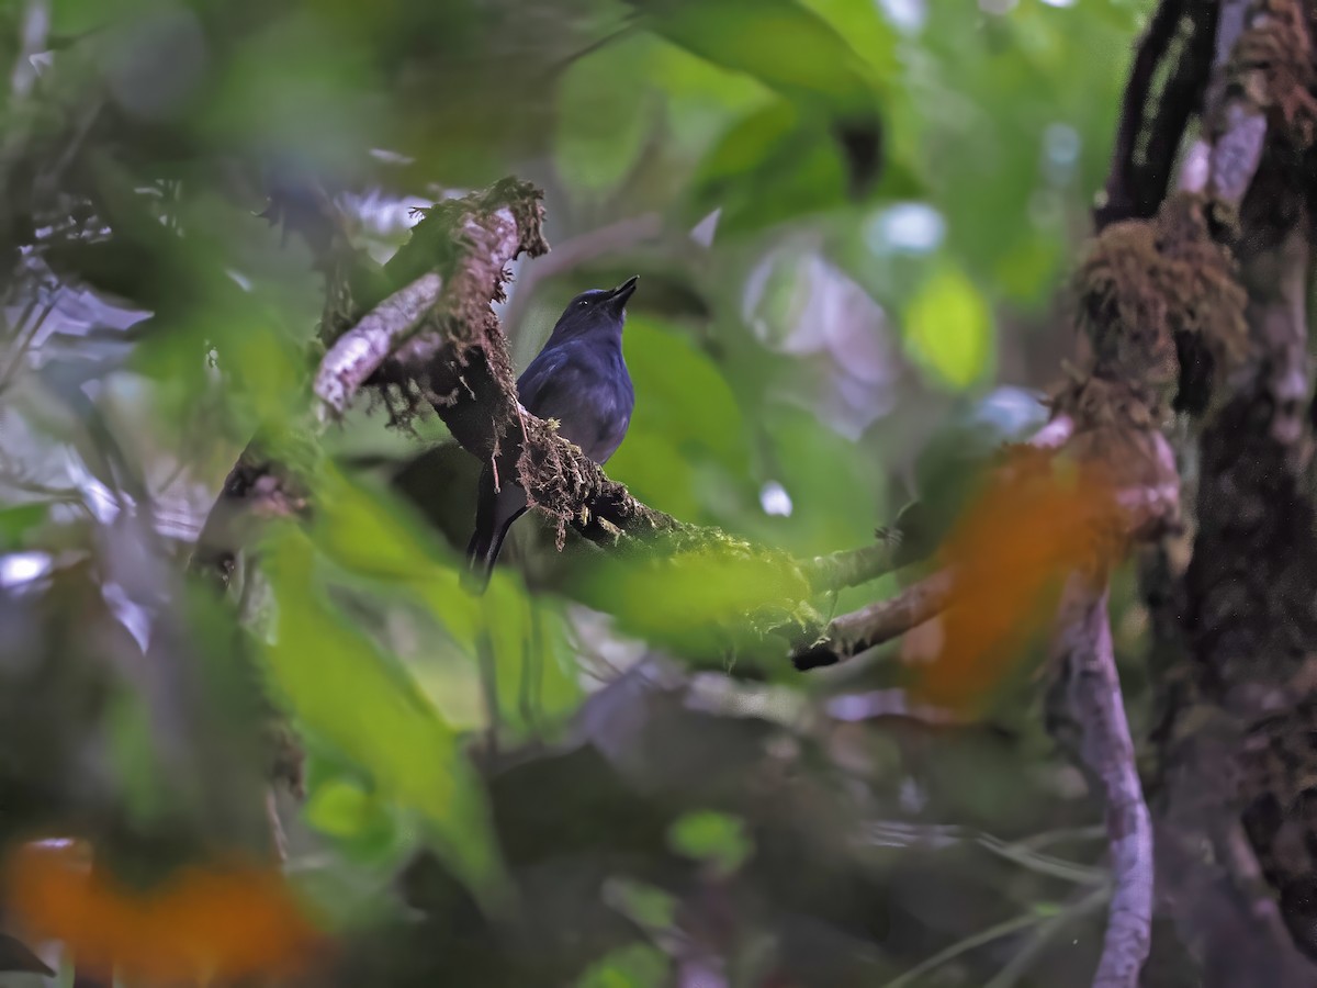
[[[1152,822],[1134,764],[1105,588],[1098,591],[1079,576],[1071,578],[1056,652],[1065,668],[1069,706],[1083,728],[1081,757],[1106,801],[1114,889],[1093,984],[1134,988],[1151,942]]]

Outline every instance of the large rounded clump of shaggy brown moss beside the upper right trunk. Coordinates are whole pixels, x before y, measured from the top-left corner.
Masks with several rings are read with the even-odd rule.
[[[1177,194],[1151,220],[1108,227],[1076,275],[1093,374],[1121,379],[1158,408],[1181,383],[1177,345],[1212,354],[1217,381],[1247,353],[1247,295],[1204,202]]]

